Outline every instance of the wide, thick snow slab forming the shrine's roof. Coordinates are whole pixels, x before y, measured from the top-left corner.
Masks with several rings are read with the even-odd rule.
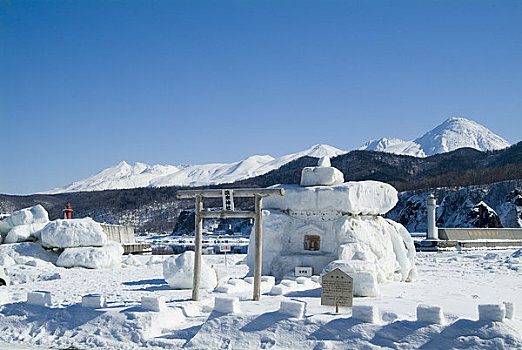
[[[379,215],[397,204],[397,190],[379,181],[351,181],[334,186],[301,187],[276,185],[284,188],[282,197],[266,197],[263,207],[281,211],[336,211],[341,213]]]

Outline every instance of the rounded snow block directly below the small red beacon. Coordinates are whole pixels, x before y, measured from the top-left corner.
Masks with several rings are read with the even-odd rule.
[[[91,218],[55,220],[41,231],[42,245],[53,248],[101,247],[107,235],[101,225]]]

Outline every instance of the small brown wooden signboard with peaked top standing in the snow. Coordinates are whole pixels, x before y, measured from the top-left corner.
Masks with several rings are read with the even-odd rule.
[[[353,278],[335,269],[322,278],[321,305],[345,306],[353,305]]]

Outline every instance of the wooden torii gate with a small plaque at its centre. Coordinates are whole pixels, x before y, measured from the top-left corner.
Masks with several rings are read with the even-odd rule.
[[[253,300],[258,301],[261,295],[261,262],[262,262],[262,232],[261,232],[261,214],[262,214],[262,198],[267,196],[283,196],[282,188],[238,188],[238,189],[211,189],[211,190],[182,190],[178,191],[177,197],[180,199],[195,198],[196,199],[196,235],[194,239],[195,257],[194,257],[194,280],[192,283],[192,300],[199,300],[199,285],[201,277],[201,240],[203,231],[204,218],[252,218],[255,227],[255,255],[254,255],[254,296]],[[254,197],[254,211],[234,211],[230,202],[227,203],[226,196],[234,197]],[[219,198],[223,197],[223,210],[208,211],[203,209],[203,198]],[[233,202],[232,202],[233,203]]]

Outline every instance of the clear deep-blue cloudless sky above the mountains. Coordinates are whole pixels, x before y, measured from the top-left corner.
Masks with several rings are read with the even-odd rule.
[[[522,139],[522,1],[0,1],[0,193],[452,116]]]

